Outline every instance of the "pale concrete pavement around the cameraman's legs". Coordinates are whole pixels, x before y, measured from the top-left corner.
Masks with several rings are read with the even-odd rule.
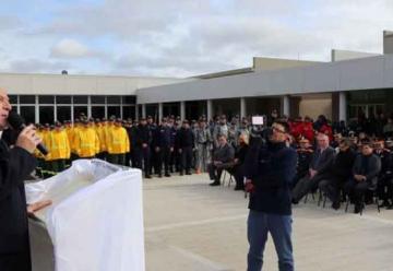
[[[206,175],[144,180],[147,270],[246,270],[248,201],[207,184]],[[300,271],[392,271],[393,211],[367,207],[360,216],[300,203],[294,248]],[[271,238],[264,260],[264,270],[277,270]]]

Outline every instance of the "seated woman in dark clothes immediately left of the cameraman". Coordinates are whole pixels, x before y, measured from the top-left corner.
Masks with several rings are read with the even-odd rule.
[[[235,190],[245,190],[245,158],[249,146],[249,138],[247,133],[241,133],[238,139],[238,146],[235,152],[234,166],[227,168],[228,173],[235,176],[236,187]]]

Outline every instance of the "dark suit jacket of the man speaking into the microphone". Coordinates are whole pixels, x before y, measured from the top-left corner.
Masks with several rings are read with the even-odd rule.
[[[0,140],[0,257],[28,251],[28,227],[24,180],[36,166],[22,148],[9,149]]]

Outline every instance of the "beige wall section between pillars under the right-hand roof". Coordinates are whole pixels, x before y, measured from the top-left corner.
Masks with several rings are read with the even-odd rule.
[[[317,119],[319,115],[325,115],[326,118],[332,119],[332,95],[301,96],[299,115],[301,117],[309,116],[313,119]]]

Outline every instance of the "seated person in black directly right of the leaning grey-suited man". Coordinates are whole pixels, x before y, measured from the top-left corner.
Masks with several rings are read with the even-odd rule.
[[[332,165],[331,176],[319,184],[321,191],[333,202],[334,210],[340,209],[340,189],[350,178],[356,152],[350,148],[349,140],[342,140],[338,144],[340,152]]]

